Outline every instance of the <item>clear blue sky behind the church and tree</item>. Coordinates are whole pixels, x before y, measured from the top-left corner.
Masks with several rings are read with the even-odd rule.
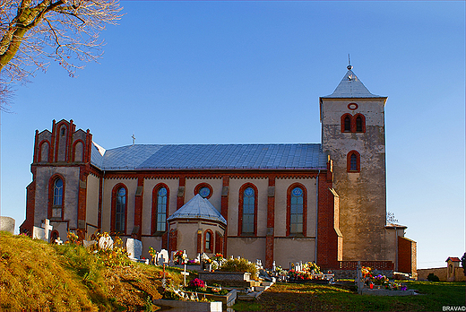
[[[104,148],[320,143],[318,98],[353,72],[385,107],[387,210],[418,267],[465,251],[465,3],[123,1],[99,64],[16,87],[1,213],[21,225],[34,132],[73,119]]]

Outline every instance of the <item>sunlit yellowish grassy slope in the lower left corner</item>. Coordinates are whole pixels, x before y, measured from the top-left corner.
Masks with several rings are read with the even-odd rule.
[[[0,310],[156,310],[160,267],[0,232]],[[168,280],[180,282],[179,272]]]

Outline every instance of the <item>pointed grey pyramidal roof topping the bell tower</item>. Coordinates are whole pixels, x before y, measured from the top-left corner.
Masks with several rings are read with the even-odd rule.
[[[332,94],[321,98],[386,98],[369,92],[366,86],[350,68],[352,67],[349,66],[348,72],[344,75],[343,79],[341,79],[341,82],[335,91],[333,91]]]

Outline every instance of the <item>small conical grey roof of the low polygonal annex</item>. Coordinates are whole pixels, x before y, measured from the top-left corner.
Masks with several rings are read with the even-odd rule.
[[[211,202],[199,194],[195,195],[189,202],[170,215],[167,221],[175,219],[206,219],[227,225],[225,218],[221,216],[220,212],[215,209]]]

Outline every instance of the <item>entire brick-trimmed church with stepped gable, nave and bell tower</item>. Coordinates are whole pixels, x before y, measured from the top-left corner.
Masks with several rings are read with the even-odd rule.
[[[288,267],[416,271],[386,223],[384,106],[352,72],[319,99],[322,143],[132,144],[105,149],[73,120],[36,131],[22,232],[108,231],[147,250],[220,252]]]

